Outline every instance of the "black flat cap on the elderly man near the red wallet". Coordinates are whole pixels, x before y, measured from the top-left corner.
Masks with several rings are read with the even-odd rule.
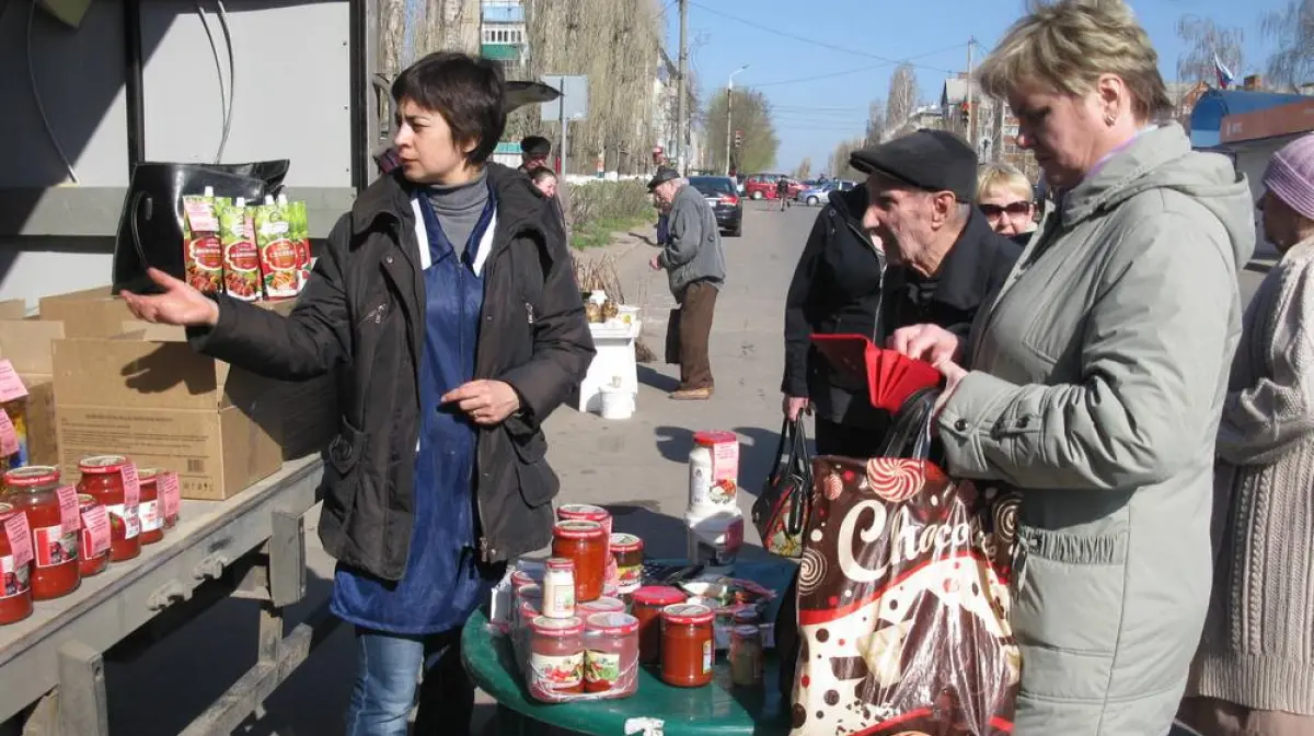
[[[921,129],[880,146],[854,151],[849,165],[925,189],[953,192],[959,202],[976,199],[976,151],[962,138]]]

